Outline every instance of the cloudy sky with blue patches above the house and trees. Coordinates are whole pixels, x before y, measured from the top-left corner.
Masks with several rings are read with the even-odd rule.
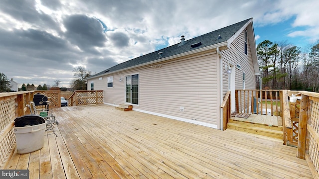
[[[319,39],[318,0],[0,0],[0,73],[68,87],[92,74],[253,17],[256,43],[306,50]]]

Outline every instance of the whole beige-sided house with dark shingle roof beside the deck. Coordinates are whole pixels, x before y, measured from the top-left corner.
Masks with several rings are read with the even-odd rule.
[[[105,104],[222,129],[224,95],[231,90],[235,110],[235,89],[255,89],[255,75],[250,18],[106,69],[87,89],[104,90]]]

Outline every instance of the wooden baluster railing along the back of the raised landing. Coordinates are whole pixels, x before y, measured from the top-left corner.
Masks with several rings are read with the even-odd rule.
[[[281,93],[282,90],[273,89],[237,89],[236,112],[281,116]]]

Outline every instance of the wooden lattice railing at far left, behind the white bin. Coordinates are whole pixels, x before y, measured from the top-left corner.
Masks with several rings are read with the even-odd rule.
[[[15,135],[13,120],[30,114],[26,104],[33,99],[34,91],[0,93],[0,169],[13,154]]]

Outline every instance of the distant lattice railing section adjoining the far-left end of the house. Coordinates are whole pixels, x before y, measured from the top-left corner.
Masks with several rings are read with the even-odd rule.
[[[68,106],[103,103],[103,90],[76,90],[68,98]]]

